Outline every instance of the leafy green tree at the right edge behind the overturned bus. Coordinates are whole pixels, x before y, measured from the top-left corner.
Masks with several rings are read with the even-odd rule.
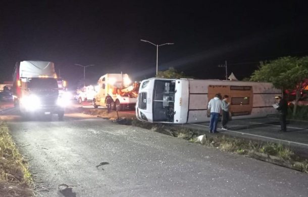
[[[300,99],[300,92],[304,88],[303,85],[307,78],[308,56],[301,58],[287,56],[261,65],[259,70],[252,73],[250,81],[271,82],[275,88],[283,91],[295,91],[294,116]]]

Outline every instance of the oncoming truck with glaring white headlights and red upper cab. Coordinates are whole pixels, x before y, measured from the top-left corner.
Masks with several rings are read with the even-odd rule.
[[[58,114],[59,120],[69,101],[65,94],[59,94],[55,65],[49,61],[16,62],[13,99],[24,116]]]

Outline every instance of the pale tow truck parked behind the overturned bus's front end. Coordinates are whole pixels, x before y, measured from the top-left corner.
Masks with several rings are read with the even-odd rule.
[[[113,101],[112,110],[125,110],[136,105],[139,83],[131,82],[128,74],[105,74],[98,82],[98,92],[93,98],[93,106],[106,106],[106,96],[109,94]]]

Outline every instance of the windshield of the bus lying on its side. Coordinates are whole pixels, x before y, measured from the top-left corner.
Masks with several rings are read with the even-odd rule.
[[[153,122],[173,122],[175,80],[156,80],[153,93]]]

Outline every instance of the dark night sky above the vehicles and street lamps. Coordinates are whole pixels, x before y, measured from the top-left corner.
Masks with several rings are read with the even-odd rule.
[[[259,61],[308,55],[304,1],[2,1],[0,81],[12,80],[16,61],[55,62],[74,86],[105,73],[138,81],[174,67],[196,78],[247,77]],[[115,3],[111,3],[115,2]],[[168,3],[167,3],[168,2]],[[253,3],[252,3],[253,2]]]

